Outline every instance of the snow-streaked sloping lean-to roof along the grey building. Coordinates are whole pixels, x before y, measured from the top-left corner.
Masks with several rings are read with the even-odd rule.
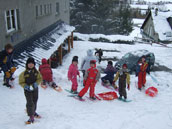
[[[66,23],[60,23],[52,31],[47,34],[42,35],[36,40],[24,44],[22,51],[17,49],[18,53],[16,54],[16,60],[18,64],[25,64],[28,57],[32,56],[35,58],[36,62],[40,64],[42,58],[48,59],[58,47],[64,43],[64,40],[71,35],[71,32],[75,30],[75,27],[72,27]],[[29,45],[27,45],[29,44]]]

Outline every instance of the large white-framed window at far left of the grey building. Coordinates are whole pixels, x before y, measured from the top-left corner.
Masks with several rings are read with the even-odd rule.
[[[18,10],[5,11],[5,21],[7,33],[18,30]]]

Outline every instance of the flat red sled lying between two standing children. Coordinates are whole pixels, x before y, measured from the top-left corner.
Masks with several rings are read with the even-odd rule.
[[[98,94],[98,96],[100,98],[102,98],[103,100],[114,100],[114,99],[117,99],[118,98],[116,92],[100,93],[100,94]]]

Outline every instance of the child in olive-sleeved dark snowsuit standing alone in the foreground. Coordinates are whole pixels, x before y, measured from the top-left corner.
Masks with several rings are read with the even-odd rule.
[[[19,76],[19,84],[24,88],[26,97],[27,114],[30,117],[26,124],[34,122],[35,118],[40,118],[36,113],[38,100],[38,85],[41,83],[42,77],[39,71],[35,68],[34,58],[28,58],[26,62],[26,70]]]

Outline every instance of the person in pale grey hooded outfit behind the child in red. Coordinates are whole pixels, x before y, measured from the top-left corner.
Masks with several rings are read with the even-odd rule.
[[[83,59],[81,63],[81,70],[83,72],[83,77],[85,76],[85,72],[90,68],[90,61],[97,60],[93,55],[93,51],[91,49],[87,50],[87,56]]]

